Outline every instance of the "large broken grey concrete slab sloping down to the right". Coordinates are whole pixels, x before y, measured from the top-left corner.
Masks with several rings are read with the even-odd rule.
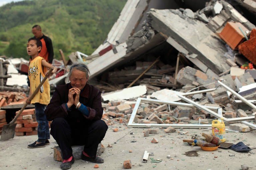
[[[154,30],[179,42],[190,53],[197,54],[197,58],[216,74],[230,68],[222,62],[226,60],[225,45],[203,22],[189,18],[179,10],[151,9],[148,23]]]

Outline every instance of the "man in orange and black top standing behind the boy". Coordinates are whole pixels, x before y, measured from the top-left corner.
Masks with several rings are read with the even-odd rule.
[[[38,54],[43,57],[48,63],[52,63],[53,60],[53,47],[52,40],[42,33],[42,29],[39,25],[32,27],[32,33],[35,38],[38,38],[42,42],[41,52]]]

